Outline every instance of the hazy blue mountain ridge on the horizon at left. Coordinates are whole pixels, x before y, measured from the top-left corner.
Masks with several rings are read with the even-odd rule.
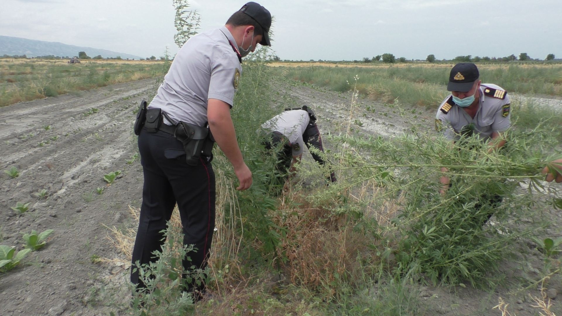
[[[0,35],[0,56],[2,55],[26,55],[27,57],[37,56],[78,56],[78,52],[86,52],[90,57],[101,55],[106,57],[117,57],[126,59],[140,59],[140,56],[108,51],[92,47],[80,47],[63,44],[59,42],[45,42],[44,40],[26,39],[21,37],[10,37]]]

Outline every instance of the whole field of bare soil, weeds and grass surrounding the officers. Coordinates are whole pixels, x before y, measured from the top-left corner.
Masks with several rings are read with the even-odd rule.
[[[395,80],[444,97],[446,74],[439,79],[437,73],[445,68],[429,74],[401,67],[391,74],[397,68],[330,74],[334,68],[301,67],[294,73],[244,64],[232,114],[254,184],[236,192],[232,168],[215,149],[217,231],[207,281],[212,296],[189,306],[174,286],[178,265],[161,265],[155,268],[158,287],[144,297],[147,314],[562,313],[556,252],[562,214],[553,205],[560,185],[537,175],[560,152],[558,96],[509,92],[516,126],[509,133],[509,154],[475,149],[461,155],[433,130],[438,98],[429,106],[405,101],[409,88],[350,92]],[[551,76],[558,70],[544,71],[545,81],[556,80]],[[305,74],[322,79],[300,78]],[[424,74],[428,79],[416,82]],[[335,91],[319,88],[326,80],[349,84]],[[44,247],[0,272],[0,314],[139,314],[129,306],[126,284],[142,191],[132,124],[138,102],[155,92],[155,81],[0,108],[0,169],[7,171],[0,175],[0,245],[25,251],[24,233],[54,229]],[[291,192],[271,195],[266,179],[274,161],[264,155],[256,130],[284,107],[302,105],[316,111],[338,182],[327,187],[327,170],[308,155]],[[459,187],[446,197],[437,194],[441,165],[459,177]],[[493,224],[471,225],[470,218],[483,216],[474,204],[487,191],[502,191],[504,203]],[[169,234],[177,238],[177,227]],[[166,247],[164,258],[177,251]]]

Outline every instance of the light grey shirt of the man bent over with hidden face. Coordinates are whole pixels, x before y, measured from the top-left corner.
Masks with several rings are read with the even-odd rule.
[[[302,154],[302,149],[305,146],[302,134],[305,133],[309,121],[310,117],[307,111],[292,110],[275,115],[273,119],[261,124],[261,127],[271,132],[279,132],[287,137],[293,151],[293,157],[296,157]]]

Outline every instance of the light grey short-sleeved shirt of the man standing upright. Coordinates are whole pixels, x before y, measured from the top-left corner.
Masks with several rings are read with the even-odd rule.
[[[236,42],[225,26],[194,35],[176,54],[164,82],[148,108],[162,109],[173,122],[198,126],[207,122],[207,100],[232,107],[242,66],[229,43]]]

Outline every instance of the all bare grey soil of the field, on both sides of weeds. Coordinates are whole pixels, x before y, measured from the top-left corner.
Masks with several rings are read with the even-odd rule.
[[[139,159],[132,164],[126,160],[137,153],[133,112],[154,89],[153,82],[140,80],[0,108],[0,170],[12,166],[20,170],[17,178],[0,174],[0,244],[22,249],[22,234],[55,229],[44,249],[0,274],[1,315],[107,314],[93,304],[96,289],[108,277],[125,278],[126,269],[92,263],[92,259],[123,257],[106,239],[106,225],[136,225],[128,218],[128,206],[140,205],[142,168]],[[350,94],[303,85],[283,90],[288,100],[316,111],[321,133],[341,133],[347,128]],[[384,137],[409,132],[411,121],[433,129],[433,110],[405,111],[400,116],[397,107],[360,99],[353,107],[351,127],[354,133]],[[121,175],[107,186],[103,175],[116,170]],[[97,188],[104,188],[101,195]],[[39,199],[35,193],[42,189],[47,190],[47,197]],[[17,202],[30,202],[29,210],[24,214],[11,210]],[[553,216],[557,225],[549,237],[559,237],[562,218]],[[505,287],[491,291],[415,287],[413,291],[429,306],[419,314],[500,315],[492,310],[499,296],[511,303],[510,311],[516,315],[538,314],[527,296],[539,296],[536,287],[516,295],[510,292],[517,290],[520,278],[536,278],[542,265],[542,254],[531,243],[522,242],[520,258],[506,259]],[[562,291],[560,282],[551,283],[551,288]],[[554,300],[555,312],[562,312],[560,299]]]

